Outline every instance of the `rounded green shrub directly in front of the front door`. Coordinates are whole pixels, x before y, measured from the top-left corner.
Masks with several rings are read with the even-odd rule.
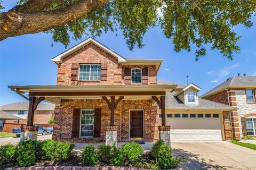
[[[142,154],[142,151],[141,146],[135,142],[125,143],[122,146],[122,152],[130,162],[136,162]]]

